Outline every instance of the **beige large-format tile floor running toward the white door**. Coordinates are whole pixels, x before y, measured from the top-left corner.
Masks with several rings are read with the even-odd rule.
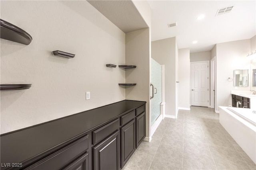
[[[219,123],[214,109],[192,106],[165,118],[122,170],[256,170],[256,165]]]

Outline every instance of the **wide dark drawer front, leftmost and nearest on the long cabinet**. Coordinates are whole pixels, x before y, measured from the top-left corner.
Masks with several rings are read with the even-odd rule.
[[[89,135],[78,139],[70,145],[46,156],[42,160],[28,166],[25,170],[50,170],[61,169],[69,162],[72,162],[75,158],[86,152],[88,149]]]

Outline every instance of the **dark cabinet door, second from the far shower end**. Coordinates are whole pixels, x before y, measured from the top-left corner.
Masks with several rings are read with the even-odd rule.
[[[136,149],[135,120],[121,128],[121,166],[122,168]]]

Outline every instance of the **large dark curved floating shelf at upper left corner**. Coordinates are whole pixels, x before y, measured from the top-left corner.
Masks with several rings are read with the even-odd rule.
[[[31,35],[24,31],[23,29],[0,19],[1,26],[1,38],[7,39],[9,41],[14,41],[16,43],[22,43],[25,45],[29,45],[32,41]]]

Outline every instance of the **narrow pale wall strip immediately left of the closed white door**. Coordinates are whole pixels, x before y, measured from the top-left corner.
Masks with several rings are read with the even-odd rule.
[[[180,109],[190,109],[190,49],[179,49],[178,55],[178,107]]]

